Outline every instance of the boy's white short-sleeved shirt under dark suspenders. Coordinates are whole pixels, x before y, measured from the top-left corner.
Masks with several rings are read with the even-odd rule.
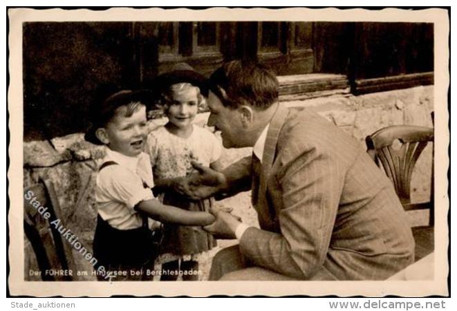
[[[106,147],[102,163],[113,161],[97,175],[95,201],[100,216],[116,229],[135,229],[142,226],[142,218],[134,207],[143,200],[153,199],[154,186],[151,162],[147,153],[125,156]],[[147,188],[143,186],[147,185]],[[148,218],[151,229],[160,222]]]

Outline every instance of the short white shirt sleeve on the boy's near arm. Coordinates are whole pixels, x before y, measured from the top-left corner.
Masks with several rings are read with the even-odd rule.
[[[111,165],[99,174],[100,190],[111,200],[133,209],[139,202],[153,199],[151,189],[144,188],[141,178],[125,167]]]

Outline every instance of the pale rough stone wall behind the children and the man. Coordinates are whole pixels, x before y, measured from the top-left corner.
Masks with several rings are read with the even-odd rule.
[[[415,124],[433,126],[433,86],[419,86],[404,90],[372,93],[369,95],[333,95],[309,100],[282,102],[287,106],[304,106],[316,111],[335,123],[342,130],[353,135],[364,147],[364,139],[384,126],[393,124]],[[205,124],[208,113],[200,113],[196,122]],[[164,119],[150,122],[150,129],[163,124]],[[225,150],[223,161],[230,164],[251,150]],[[82,244],[91,249],[95,229],[96,209],[93,189],[97,160],[102,157],[99,147],[84,141],[81,133],[54,138],[50,141],[24,142],[24,189],[40,178],[48,178],[55,186],[59,199],[60,215],[66,227],[77,234]],[[413,173],[412,198],[427,200],[430,191],[431,146],[428,146],[418,161]],[[234,213],[243,217],[246,223],[256,225],[256,214],[250,206],[250,194],[239,194],[234,198],[219,202],[234,208]],[[412,219],[423,221],[422,214]],[[227,242],[221,243],[222,246]],[[30,245],[26,253],[31,258]],[[75,252],[75,261],[80,270],[90,271],[91,266]],[[32,263],[30,263],[32,265]],[[26,267],[27,268],[27,267]],[[92,279],[90,276],[88,279]]]

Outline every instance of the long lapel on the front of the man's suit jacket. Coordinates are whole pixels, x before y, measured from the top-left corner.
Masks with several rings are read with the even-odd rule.
[[[261,227],[272,230],[274,219],[272,219],[271,210],[273,207],[268,206],[266,200],[267,182],[270,177],[270,170],[273,165],[274,156],[276,154],[276,146],[281,133],[282,126],[288,116],[288,109],[278,106],[274,113],[268,128],[267,138],[265,140],[265,149],[263,149],[262,166],[259,180],[259,192],[257,194],[257,213],[259,214],[259,222]]]

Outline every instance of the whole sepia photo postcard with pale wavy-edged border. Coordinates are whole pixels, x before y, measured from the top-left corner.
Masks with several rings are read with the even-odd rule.
[[[10,294],[449,295],[449,11],[8,25]]]

